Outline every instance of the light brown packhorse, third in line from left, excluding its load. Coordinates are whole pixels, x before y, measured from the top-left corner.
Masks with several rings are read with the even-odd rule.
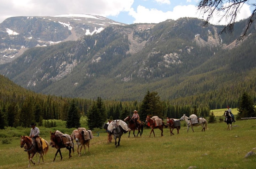
[[[75,131],[74,130],[74,132],[75,132],[75,135],[74,135],[74,139],[75,139],[75,141],[76,141],[76,145],[77,145],[77,153],[78,153],[78,155],[79,155],[79,157],[80,157],[80,155],[81,155],[81,151],[82,151],[82,148],[84,147],[84,154],[85,154],[85,145],[88,147],[88,152],[90,152],[90,149],[89,149],[89,147],[90,147],[90,140],[84,140],[84,131],[81,131],[81,132],[79,132],[79,131]],[[79,146],[81,146],[80,147],[80,151],[79,151]]]

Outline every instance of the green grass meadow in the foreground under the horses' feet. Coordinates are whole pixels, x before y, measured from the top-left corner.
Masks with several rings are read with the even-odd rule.
[[[149,129],[144,129],[142,137],[128,138],[128,133],[122,136],[120,146],[115,148],[114,139],[107,143],[107,134],[91,140],[90,152],[82,150],[81,157],[75,152],[68,158],[68,151],[62,149],[63,160],[59,154],[53,161],[55,148],[49,149],[45,162],[32,165],[31,168],[188,168],[197,166],[202,169],[241,169],[255,168],[256,157],[243,158],[246,153],[256,147],[256,120],[235,122],[232,130],[227,130],[226,123],[208,124],[208,130],[201,132],[201,126],[194,131],[186,131],[181,123],[180,134],[176,129],[170,136],[169,129],[164,129],[163,137],[160,130],[155,129],[156,137],[149,138]],[[42,137],[49,141],[50,134],[42,128]],[[137,133],[137,132],[136,132]],[[70,134],[70,133],[69,133]],[[95,133],[95,136],[97,134]],[[20,138],[11,138],[11,144],[2,144],[0,138],[0,169],[27,168],[28,157],[20,148]],[[76,151],[76,146],[75,146]],[[207,155],[204,155],[207,154]],[[34,157],[34,161],[38,158]]]

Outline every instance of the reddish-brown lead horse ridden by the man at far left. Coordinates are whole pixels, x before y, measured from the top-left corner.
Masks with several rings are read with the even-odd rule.
[[[42,144],[42,141],[40,141],[41,144]],[[40,157],[39,157],[39,160],[38,160],[38,163],[40,163],[40,159],[42,158],[42,162],[44,162],[44,158],[43,158],[43,155],[46,154],[48,152],[48,149],[49,149],[49,146],[48,146],[48,142],[45,141],[47,147],[44,148],[41,153],[40,153]],[[21,136],[21,148],[24,147],[24,144],[26,144],[26,150],[27,150],[27,153],[28,153],[28,157],[29,157],[29,166],[30,167],[30,162],[32,162],[34,165],[36,164],[32,158],[34,157],[34,155],[36,154],[36,152],[38,152],[38,150],[36,150],[33,141],[30,137],[28,136]]]

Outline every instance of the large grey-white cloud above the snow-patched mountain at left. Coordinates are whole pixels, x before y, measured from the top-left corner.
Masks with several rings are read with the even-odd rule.
[[[0,23],[11,16],[117,16],[122,11],[129,11],[133,2],[134,0],[1,0]]]

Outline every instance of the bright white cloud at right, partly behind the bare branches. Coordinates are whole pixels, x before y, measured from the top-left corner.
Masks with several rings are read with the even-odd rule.
[[[173,11],[167,12],[163,12],[157,9],[147,9],[144,6],[139,5],[137,7],[137,12],[133,8],[131,8],[129,11],[129,15],[135,18],[134,23],[159,23],[167,19],[177,20],[181,17],[194,17],[203,19],[202,14],[200,14],[197,6],[195,5],[178,5],[173,8]],[[240,14],[238,14],[237,16],[236,21],[248,18],[250,15],[251,11],[249,5],[243,4],[243,7],[240,10]],[[215,13],[214,18],[210,20],[210,23],[224,25],[226,23],[226,18],[218,23],[220,18],[221,15],[217,15],[217,13]]]

